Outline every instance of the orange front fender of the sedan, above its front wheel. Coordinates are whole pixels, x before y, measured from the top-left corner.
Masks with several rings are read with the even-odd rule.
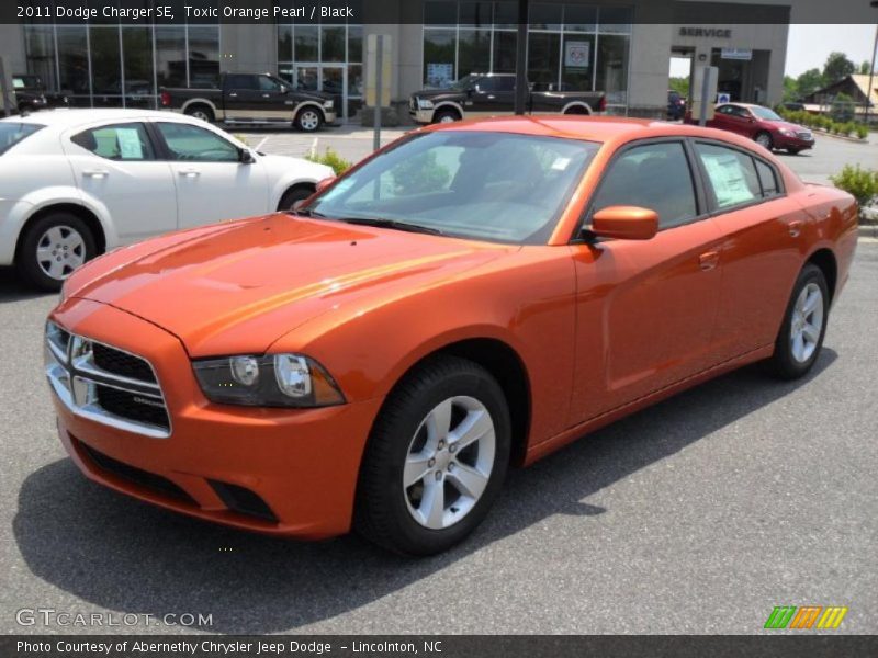
[[[502,341],[527,371],[533,444],[565,429],[574,288],[566,247],[525,247],[440,284],[408,280],[370,295],[344,291],[330,311],[270,351],[316,359],[356,401],[387,395],[416,363],[452,343]]]

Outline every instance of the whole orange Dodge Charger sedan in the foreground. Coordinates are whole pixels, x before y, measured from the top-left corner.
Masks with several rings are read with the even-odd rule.
[[[746,363],[804,375],[856,225],[725,132],[430,126],[290,213],[76,271],[46,325],[58,430],[171,510],[437,553],[511,465]]]

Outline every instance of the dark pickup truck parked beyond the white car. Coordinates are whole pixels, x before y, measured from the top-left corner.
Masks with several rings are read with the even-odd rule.
[[[300,91],[269,73],[223,73],[216,89],[161,88],[162,109],[206,122],[292,124],[312,133],[336,121],[329,94]]]

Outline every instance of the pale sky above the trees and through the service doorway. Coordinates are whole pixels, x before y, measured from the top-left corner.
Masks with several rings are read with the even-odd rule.
[[[796,78],[808,69],[822,70],[834,50],[859,67],[864,60],[871,61],[874,44],[875,25],[790,25],[785,73]],[[671,75],[688,76],[689,61],[672,59]]]

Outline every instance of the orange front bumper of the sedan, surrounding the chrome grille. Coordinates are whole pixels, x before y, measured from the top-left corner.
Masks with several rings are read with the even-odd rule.
[[[75,415],[53,394],[60,440],[89,478],[235,527],[302,538],[349,531],[360,460],[381,399],[301,410],[213,405],[183,345],[156,326],[83,299],[64,303],[52,318],[150,361],[171,416],[170,435],[154,439]],[[236,504],[240,491],[269,513]]]

